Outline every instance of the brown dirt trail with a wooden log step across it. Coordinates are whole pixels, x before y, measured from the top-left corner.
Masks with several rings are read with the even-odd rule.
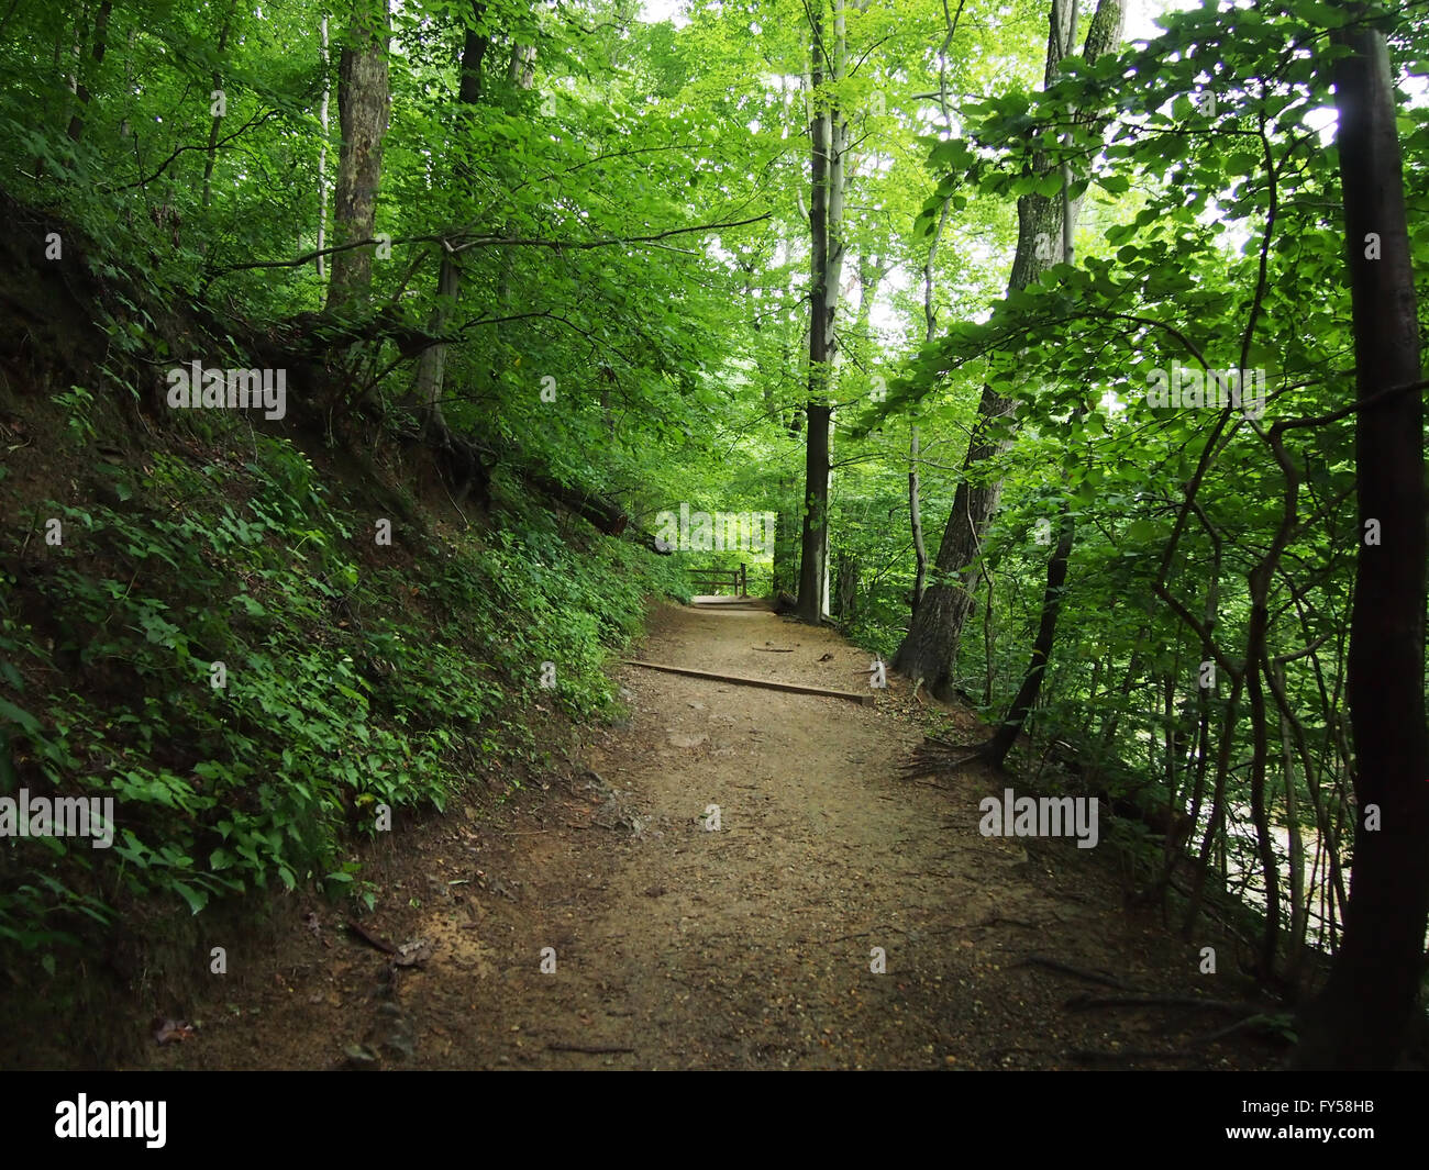
[[[767,611],[663,606],[637,654],[869,686],[867,654]],[[1239,999],[1232,949],[1123,909],[1105,823],[1090,850],[982,837],[977,801],[1005,781],[902,779],[922,729],[896,680],[866,707],[616,674],[630,719],[586,729],[570,777],[520,814],[449,810],[379,866],[366,926],[430,944],[429,959],[389,961],[334,907],[294,907],[282,953],[253,957],[262,977],[197,1006],[200,1037],[154,1063],[1065,1069],[1095,1063],[1080,1050],[1180,1049],[1235,1019],[1069,1010],[1110,991],[1019,966],[1040,954],[1140,991]],[[1220,976],[1198,973],[1208,941]],[[875,947],[886,973],[870,970]],[[1229,1043],[1140,1067],[1269,1060]]]

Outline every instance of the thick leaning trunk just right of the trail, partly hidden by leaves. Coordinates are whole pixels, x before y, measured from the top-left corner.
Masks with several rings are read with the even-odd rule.
[[[1072,3],[1053,0],[1047,33],[1046,81],[1056,76],[1070,41]],[[1095,63],[1113,50],[1122,39],[1122,0],[1100,0],[1092,27],[1087,30],[1082,56]],[[1035,170],[1046,174],[1049,163],[1035,161]],[[1080,200],[1072,204],[1075,217]],[[1007,291],[1015,293],[1033,284],[1050,267],[1055,249],[1050,241],[1062,234],[1062,206],[1057,199],[1039,194],[1017,200],[1017,251],[1007,279]],[[1040,240],[1046,243],[1039,243]],[[963,623],[973,604],[973,566],[982,553],[982,539],[992,514],[997,510],[1002,481],[987,474],[986,466],[1002,454],[1010,443],[999,429],[1013,411],[1013,403],[990,386],[985,386],[977,404],[977,423],[967,444],[963,474],[947,517],[943,543],[937,550],[935,580],[909,623],[909,631],[893,657],[893,667],[910,679],[923,679],[929,690],[940,699],[950,699],[956,687],[953,673]]]

